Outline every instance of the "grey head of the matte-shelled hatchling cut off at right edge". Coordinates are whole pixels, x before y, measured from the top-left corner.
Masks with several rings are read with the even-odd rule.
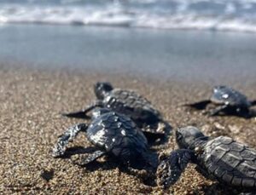
[[[189,148],[195,143],[196,139],[205,137],[199,129],[193,126],[177,129],[176,132],[176,141],[179,148]]]

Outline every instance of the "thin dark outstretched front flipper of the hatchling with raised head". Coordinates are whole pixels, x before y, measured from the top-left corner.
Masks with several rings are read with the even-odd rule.
[[[62,113],[62,116],[65,116],[67,118],[90,118],[86,115],[87,112],[92,111],[94,108],[96,107],[102,107],[102,101],[97,100],[96,102],[94,102],[93,104],[91,104],[90,106],[87,106],[84,110],[82,111],[78,111],[78,112],[69,112],[69,113]]]

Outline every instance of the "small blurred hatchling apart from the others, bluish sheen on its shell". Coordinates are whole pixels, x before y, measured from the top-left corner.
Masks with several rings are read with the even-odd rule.
[[[224,114],[249,118],[251,116],[249,107],[256,105],[256,100],[249,101],[245,95],[242,95],[239,91],[230,87],[216,86],[213,88],[210,100],[202,100],[193,104],[187,104],[186,106],[202,110],[210,103],[216,106],[209,111],[211,116],[223,112]]]

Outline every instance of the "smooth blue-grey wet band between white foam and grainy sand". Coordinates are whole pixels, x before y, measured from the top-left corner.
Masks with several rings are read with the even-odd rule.
[[[255,80],[255,35],[73,26],[0,27],[0,59],[38,69],[104,72],[167,82]],[[25,41],[26,40],[26,41]]]

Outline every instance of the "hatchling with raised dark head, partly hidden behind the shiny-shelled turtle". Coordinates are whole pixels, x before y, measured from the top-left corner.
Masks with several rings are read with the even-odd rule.
[[[113,89],[110,83],[96,83],[94,91],[97,98],[96,102],[87,106],[83,111],[63,115],[71,118],[85,118],[86,113],[95,107],[105,107],[129,116],[137,123],[139,128],[143,129],[150,140],[164,139],[166,137],[165,133],[168,134],[171,131],[172,127],[162,119],[160,112],[147,99],[136,92]],[[159,130],[160,124],[164,127],[164,132]]]

